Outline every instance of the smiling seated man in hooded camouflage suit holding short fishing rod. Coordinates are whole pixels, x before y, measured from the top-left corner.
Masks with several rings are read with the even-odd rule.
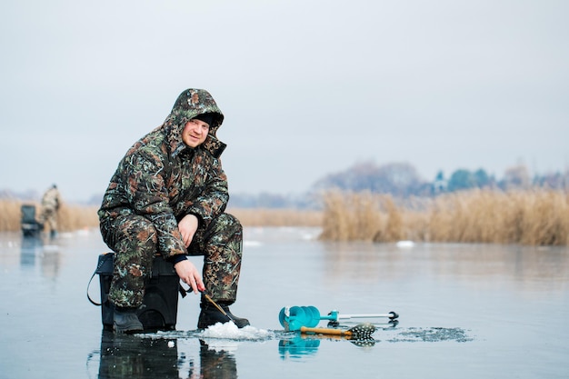
[[[116,332],[143,329],[135,310],[143,303],[145,281],[160,254],[197,294],[207,293],[231,314],[241,270],[243,229],[225,213],[229,199],[220,155],[225,144],[215,133],[224,115],[205,90],[178,96],[170,115],[133,145],[121,160],[98,211],[101,234],[115,251],[109,300],[115,304]],[[203,280],[186,254],[204,255]],[[198,328],[229,317],[202,295]]]

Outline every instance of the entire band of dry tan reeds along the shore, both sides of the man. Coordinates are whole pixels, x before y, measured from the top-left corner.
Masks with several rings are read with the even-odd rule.
[[[329,192],[322,200],[322,212],[245,208],[228,212],[245,226],[322,227],[320,238],[330,241],[569,244],[569,194],[563,191],[473,190],[405,200],[388,194]],[[20,230],[22,204],[0,200],[0,231]],[[59,230],[98,227],[96,210],[63,204]]]

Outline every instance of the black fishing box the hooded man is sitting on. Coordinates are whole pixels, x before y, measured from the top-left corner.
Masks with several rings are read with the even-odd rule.
[[[101,315],[105,330],[113,329],[115,305],[109,302],[108,294],[113,279],[114,258],[114,253],[100,254],[95,270],[101,283]],[[174,264],[156,256],[152,276],[145,286],[143,305],[136,312],[145,331],[175,330],[179,286],[180,279],[175,273]]]

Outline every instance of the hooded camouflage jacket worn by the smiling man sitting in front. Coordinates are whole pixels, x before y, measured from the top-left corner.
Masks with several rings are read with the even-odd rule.
[[[217,117],[204,144],[191,148],[182,141],[182,131],[188,120],[204,113]],[[119,163],[98,211],[102,230],[117,217],[142,215],[155,225],[158,250],[165,258],[185,254],[178,221],[195,214],[199,227],[206,228],[229,200],[219,159],[225,144],[215,137],[223,120],[205,90],[179,95],[165,123],[136,142]]]

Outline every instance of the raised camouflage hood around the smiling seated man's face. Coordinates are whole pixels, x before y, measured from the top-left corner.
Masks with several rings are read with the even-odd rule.
[[[224,115],[219,107],[215,104],[215,100],[207,91],[203,89],[187,89],[178,96],[175,101],[172,112],[165,119],[162,126],[165,128],[170,144],[172,155],[178,155],[185,148],[188,148],[182,140],[182,131],[185,124],[195,118],[196,115],[211,113],[216,115],[212,125],[209,125],[209,133],[205,138],[201,147],[205,148],[215,158],[225,150],[225,144],[217,139],[215,133],[224,122]]]

